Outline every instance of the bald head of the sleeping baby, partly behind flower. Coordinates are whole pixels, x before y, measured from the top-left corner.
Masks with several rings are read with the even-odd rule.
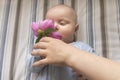
[[[62,40],[71,43],[75,40],[78,30],[77,14],[67,5],[56,5],[48,10],[46,19],[52,19],[56,30],[62,34]]]

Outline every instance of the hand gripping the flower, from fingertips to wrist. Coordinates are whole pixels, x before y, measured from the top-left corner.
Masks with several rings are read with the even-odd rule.
[[[36,61],[33,64],[33,66],[40,66],[46,64],[66,65],[68,58],[72,55],[70,54],[72,50],[68,49],[74,47],[61,40],[44,37],[40,42],[36,43],[33,48],[39,49],[32,51],[33,56],[44,57],[42,60]]]

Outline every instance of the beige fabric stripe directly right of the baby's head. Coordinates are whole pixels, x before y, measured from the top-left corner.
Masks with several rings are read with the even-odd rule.
[[[81,40],[87,43],[87,34],[86,34],[86,0],[76,0],[76,11],[78,15],[78,23],[79,23],[79,30],[78,30],[78,40]]]

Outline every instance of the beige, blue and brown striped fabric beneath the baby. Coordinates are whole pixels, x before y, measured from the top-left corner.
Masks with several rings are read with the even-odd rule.
[[[120,0],[0,0],[0,80],[25,80],[25,59],[34,43],[32,21],[56,4],[78,14],[78,40],[120,62]]]

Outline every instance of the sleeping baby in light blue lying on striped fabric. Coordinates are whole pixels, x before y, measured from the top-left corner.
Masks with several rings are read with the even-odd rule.
[[[56,5],[48,10],[46,19],[54,21],[56,31],[62,34],[62,40],[64,42],[81,50],[94,53],[94,50],[90,46],[76,41],[76,32],[79,25],[77,24],[77,14],[74,9],[67,5]],[[30,55],[29,60],[27,60],[30,66],[30,71],[37,74],[37,80],[88,80],[83,77],[82,74],[76,74],[72,68],[67,66],[43,65],[33,67],[32,64],[38,60],[40,60],[40,57]]]

